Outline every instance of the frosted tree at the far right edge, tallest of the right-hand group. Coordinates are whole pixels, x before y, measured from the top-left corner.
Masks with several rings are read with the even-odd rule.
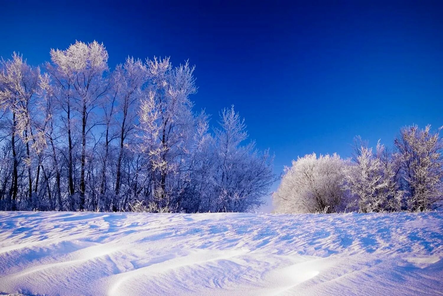
[[[407,192],[405,206],[411,211],[425,211],[443,199],[443,141],[431,126],[402,128],[395,139],[401,163],[401,177]]]

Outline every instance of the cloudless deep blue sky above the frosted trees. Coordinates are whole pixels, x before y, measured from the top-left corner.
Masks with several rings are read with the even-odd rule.
[[[215,125],[234,104],[276,173],[298,155],[348,157],[356,135],[391,145],[402,126],[443,125],[443,2],[130,2],[3,3],[0,55],[37,65],[95,39],[111,68],[189,59],[195,107]]]

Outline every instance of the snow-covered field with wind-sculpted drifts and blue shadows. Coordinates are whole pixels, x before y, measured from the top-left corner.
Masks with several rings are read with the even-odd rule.
[[[443,295],[443,213],[0,212],[0,292]]]

